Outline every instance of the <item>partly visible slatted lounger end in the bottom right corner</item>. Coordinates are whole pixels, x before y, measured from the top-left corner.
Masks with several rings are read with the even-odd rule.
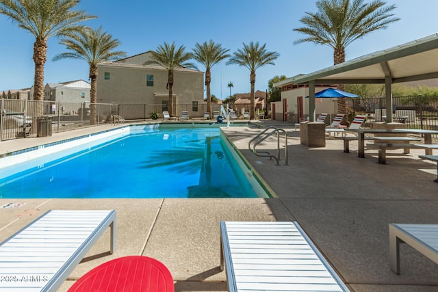
[[[389,264],[396,274],[400,274],[400,243],[438,263],[437,224],[389,224]]]

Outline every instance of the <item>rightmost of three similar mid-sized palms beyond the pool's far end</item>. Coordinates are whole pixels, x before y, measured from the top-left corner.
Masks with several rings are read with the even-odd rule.
[[[259,42],[250,42],[244,44],[243,49],[238,49],[233,53],[233,56],[227,62],[229,64],[237,64],[244,66],[250,70],[250,118],[254,118],[254,86],[255,86],[255,71],[261,66],[274,65],[274,59],[279,57],[279,53],[266,51],[266,44],[259,47]]]

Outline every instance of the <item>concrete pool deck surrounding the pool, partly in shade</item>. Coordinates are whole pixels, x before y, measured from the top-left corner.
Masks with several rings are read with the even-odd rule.
[[[300,145],[294,124],[263,124],[287,131],[289,165],[275,165],[248,150],[248,141],[261,129],[231,127],[224,132],[277,198],[0,199],[0,205],[25,203],[0,209],[0,241],[49,209],[116,209],[114,254],[107,254],[106,232],[60,291],[96,265],[136,254],[162,261],[172,273],[175,291],[225,291],[226,276],[219,269],[219,222],[296,220],[352,291],[437,291],[438,265],[407,245],[400,248],[401,274],[389,268],[389,223],[438,222],[438,183],[433,182],[437,168],[417,159],[424,151],[402,155],[396,150],[388,154],[388,165],[379,165],[375,150],[359,159],[357,143],[351,143],[349,154],[342,152],[339,140],[308,148]],[[114,126],[0,142],[0,154],[106,129]],[[276,142],[269,139],[260,147],[274,151]]]

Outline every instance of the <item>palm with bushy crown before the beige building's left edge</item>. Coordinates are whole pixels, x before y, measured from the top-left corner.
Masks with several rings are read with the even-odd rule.
[[[88,63],[91,79],[90,88],[90,112],[91,124],[96,124],[96,101],[97,101],[97,65],[120,59],[126,56],[124,51],[114,51],[120,42],[113,39],[106,31],[84,27],[81,31],[72,31],[64,36],[60,44],[64,44],[70,52],[61,53],[53,57],[54,61],[59,59],[83,59]]]

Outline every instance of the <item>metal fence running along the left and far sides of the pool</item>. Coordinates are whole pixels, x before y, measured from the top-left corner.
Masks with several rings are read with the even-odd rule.
[[[220,105],[212,104],[212,111],[218,111]],[[59,133],[92,126],[90,103],[64,103],[60,101],[29,101],[0,98],[0,141],[17,137],[35,137],[41,121],[51,120],[51,131]],[[109,124],[114,115],[125,120],[149,120],[153,112],[162,117],[162,111],[168,111],[167,105],[127,105],[96,104],[96,123]],[[207,104],[176,104],[175,116],[188,111],[189,118],[203,118]]]

